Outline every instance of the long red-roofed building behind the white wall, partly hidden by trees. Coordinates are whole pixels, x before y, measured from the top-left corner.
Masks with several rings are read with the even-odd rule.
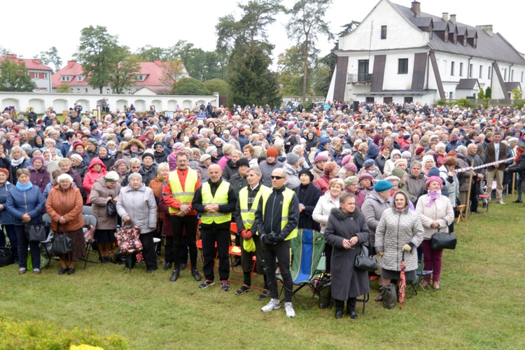
[[[155,62],[139,62],[140,69],[135,73],[135,84],[127,90],[127,94],[166,94],[171,90],[172,85],[165,81],[167,62],[159,60]],[[182,64],[178,78],[188,78],[189,74],[186,67]],[[52,75],[52,91],[56,92],[57,87],[62,84],[71,86],[73,94],[99,94],[99,89],[94,89],[86,80],[83,74],[82,65],[76,61],[68,61],[64,68]],[[104,87],[104,94],[112,94],[111,87]]]

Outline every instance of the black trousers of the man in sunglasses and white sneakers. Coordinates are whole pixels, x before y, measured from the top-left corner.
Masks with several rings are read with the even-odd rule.
[[[277,287],[277,279],[275,276],[275,259],[277,258],[277,260],[279,260],[281,276],[283,277],[284,301],[292,302],[293,280],[292,274],[290,274],[290,241],[281,241],[280,243],[274,244],[273,246],[262,244],[262,246],[263,251],[265,252],[268,289],[269,293],[272,295],[272,299],[279,299],[279,288]]]

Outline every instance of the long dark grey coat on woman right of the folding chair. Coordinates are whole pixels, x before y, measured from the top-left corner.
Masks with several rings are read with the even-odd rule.
[[[368,228],[365,216],[359,208],[353,213],[344,213],[332,209],[325,230],[325,241],[332,246],[332,297],[336,300],[348,300],[370,293],[368,272],[353,268],[356,256],[360,254],[363,244],[368,241]],[[343,248],[343,239],[358,237],[353,249]]]

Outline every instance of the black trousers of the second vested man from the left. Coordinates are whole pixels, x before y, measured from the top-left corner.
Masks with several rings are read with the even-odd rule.
[[[218,254],[219,260],[219,278],[225,281],[230,278],[230,260],[228,256],[228,247],[230,246],[230,230],[211,231],[202,229],[202,255],[204,255],[204,264],[202,270],[204,276],[209,281],[214,281],[214,264],[215,256]],[[215,243],[217,242],[217,250]],[[191,251],[190,251],[191,252]]]

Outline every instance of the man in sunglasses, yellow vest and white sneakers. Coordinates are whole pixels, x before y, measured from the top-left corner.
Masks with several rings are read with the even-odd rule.
[[[281,307],[275,276],[277,259],[283,277],[286,316],[295,317],[292,305],[293,280],[290,274],[290,239],[297,236],[299,200],[293,190],[284,186],[286,182],[284,169],[274,169],[270,179],[272,180],[272,191],[262,195],[253,223],[263,243],[268,288],[272,296],[272,300],[262,307],[261,311],[269,312]]]

